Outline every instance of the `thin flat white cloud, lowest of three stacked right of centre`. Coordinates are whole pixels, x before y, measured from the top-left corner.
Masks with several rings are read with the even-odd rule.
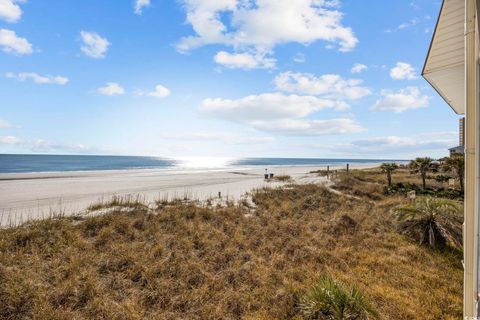
[[[261,131],[295,136],[358,133],[366,130],[355,120],[346,118],[329,120],[285,119],[279,121],[259,121],[254,122],[253,127]]]

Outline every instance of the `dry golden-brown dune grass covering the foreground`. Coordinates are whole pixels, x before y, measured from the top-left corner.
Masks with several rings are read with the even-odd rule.
[[[1,230],[0,318],[302,319],[326,275],[380,319],[461,318],[461,254],[397,234],[404,199],[363,196],[293,185],[255,192],[255,209],[178,202]]]

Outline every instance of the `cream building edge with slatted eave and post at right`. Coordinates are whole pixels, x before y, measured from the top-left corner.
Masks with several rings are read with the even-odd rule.
[[[479,319],[480,0],[443,0],[423,77],[464,114],[463,315]]]

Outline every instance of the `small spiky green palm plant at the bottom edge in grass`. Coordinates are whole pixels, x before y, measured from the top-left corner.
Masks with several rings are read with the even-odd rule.
[[[302,297],[300,311],[306,319],[366,320],[378,313],[362,292],[327,276]]]

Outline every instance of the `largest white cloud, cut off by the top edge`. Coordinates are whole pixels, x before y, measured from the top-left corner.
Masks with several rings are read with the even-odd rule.
[[[180,52],[209,45],[233,47],[236,54],[272,54],[278,44],[308,45],[323,40],[340,51],[355,48],[358,39],[342,24],[338,1],[325,0],[183,0],[194,35],[176,45]],[[228,19],[225,19],[228,16]]]

